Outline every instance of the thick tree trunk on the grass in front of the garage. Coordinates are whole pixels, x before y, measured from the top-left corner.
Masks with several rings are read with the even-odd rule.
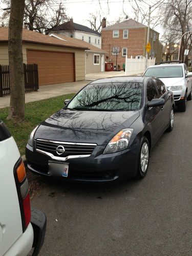
[[[25,84],[22,51],[22,34],[25,0],[11,0],[9,18],[9,75],[10,110],[9,119],[25,118]]]

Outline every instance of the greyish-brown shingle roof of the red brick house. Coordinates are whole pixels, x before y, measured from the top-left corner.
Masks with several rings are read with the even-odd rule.
[[[130,18],[130,19],[124,20],[124,22],[120,22],[120,23],[114,24],[112,26],[103,28],[102,30],[129,29],[129,28],[147,28],[147,26],[145,26],[139,22],[136,22],[136,20]]]

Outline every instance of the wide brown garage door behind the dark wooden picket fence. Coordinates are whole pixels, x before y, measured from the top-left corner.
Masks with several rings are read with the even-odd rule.
[[[38,64],[39,85],[74,82],[74,54],[27,50],[27,62]]]

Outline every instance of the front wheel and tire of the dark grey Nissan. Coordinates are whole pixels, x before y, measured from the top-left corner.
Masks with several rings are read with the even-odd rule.
[[[135,176],[136,179],[140,180],[145,177],[148,169],[149,160],[150,160],[150,144],[148,143],[148,140],[146,137],[142,137],[140,142],[137,174]]]

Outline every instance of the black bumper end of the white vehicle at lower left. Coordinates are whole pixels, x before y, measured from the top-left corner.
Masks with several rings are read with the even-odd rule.
[[[34,232],[34,240],[32,246],[34,250],[32,256],[38,255],[42,244],[44,243],[46,223],[46,216],[42,211],[31,209],[31,224]]]

